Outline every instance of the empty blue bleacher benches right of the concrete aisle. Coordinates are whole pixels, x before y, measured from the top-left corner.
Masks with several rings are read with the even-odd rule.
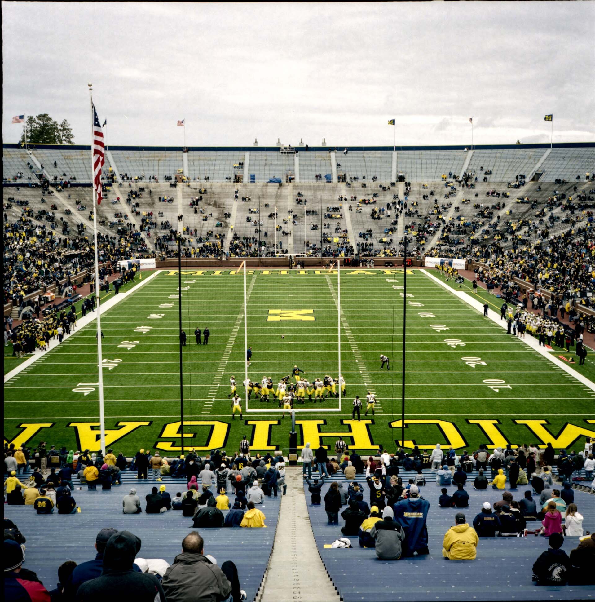
[[[428,514],[429,556],[416,556],[395,561],[378,560],[373,549],[360,548],[356,536],[350,536],[353,548],[324,548],[335,539],[342,537],[341,526],[345,521],[339,512],[339,526],[327,526],[324,501],[321,506],[312,506],[307,485],[304,490],[308,504],[310,524],[322,562],[333,580],[344,602],[393,602],[394,600],[586,600],[593,594],[590,586],[544,587],[531,581],[532,566],[539,554],[547,548],[547,538],[528,536],[527,538],[481,538],[475,560],[447,560],[442,556],[442,539],[449,527],[454,525],[457,512],[464,512],[469,524],[481,510],[484,501],[494,503],[502,494],[491,487],[486,492],[475,491],[470,476],[469,508],[440,508],[438,497],[441,487],[436,486],[436,477],[424,470],[427,485],[421,487],[420,494],[430,501]],[[403,483],[413,477],[413,473],[399,473]],[[322,487],[322,498],[334,480],[342,482],[347,489],[348,481],[341,475],[334,475]],[[357,482],[363,484],[364,499],[369,502],[368,485],[365,476],[357,475]],[[469,483],[469,481],[467,482]],[[448,486],[449,494],[456,486]],[[526,485],[519,485],[513,491],[514,499],[525,494]],[[595,528],[595,496],[575,491],[575,503],[585,517],[584,529],[593,532]],[[537,523],[528,523],[532,530]],[[578,544],[578,538],[565,538],[563,549],[570,553]]]

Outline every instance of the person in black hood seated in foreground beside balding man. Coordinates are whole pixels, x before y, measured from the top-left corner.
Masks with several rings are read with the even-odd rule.
[[[114,533],[106,542],[101,576],[82,583],[77,602],[104,602],[114,597],[135,602],[165,602],[161,582],[150,573],[135,569],[134,559],[141,549],[141,540],[128,531]],[[79,565],[80,566],[80,565]],[[79,568],[76,567],[76,570]]]

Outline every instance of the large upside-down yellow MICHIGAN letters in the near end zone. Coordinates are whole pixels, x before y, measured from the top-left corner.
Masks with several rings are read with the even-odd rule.
[[[310,447],[318,448],[320,445],[325,445],[327,449],[333,448],[334,441],[338,436],[342,436],[347,442],[351,450],[377,450],[378,445],[383,444],[384,447],[389,447],[387,441],[378,441],[374,439],[375,430],[379,427],[386,429],[389,427],[393,435],[399,435],[401,432],[401,420],[390,421],[388,423],[378,424],[375,421],[364,420],[341,420],[341,429],[327,430],[326,420],[296,420],[295,423],[299,430],[301,445],[298,448],[304,447],[304,442],[310,442]],[[586,424],[595,424],[594,419],[585,419]],[[508,430],[505,425],[497,418],[468,418],[464,421],[466,425],[473,425],[482,433],[482,438],[487,442],[488,447],[505,447],[508,444],[519,444],[520,441],[511,441],[507,438],[505,430]],[[165,452],[180,452],[180,421],[163,424],[159,430],[159,435],[152,447]],[[227,439],[230,433],[231,424],[221,420],[185,420],[185,445],[184,449],[194,448],[200,452],[206,452],[212,449],[223,448],[227,444]],[[277,431],[273,435],[274,427],[279,427],[280,420],[245,420],[240,423],[242,427],[246,427],[245,431],[250,433],[248,440],[250,448],[254,451],[267,452],[276,449],[283,449],[289,445],[289,433],[285,430],[282,433]],[[545,448],[548,443],[551,443],[556,449],[569,448],[579,437],[595,438],[595,430],[587,428],[581,424],[565,423],[558,433],[552,433],[547,429],[550,424],[546,418],[540,419],[524,419],[517,418],[511,421],[511,425],[525,427],[526,436],[532,436],[532,441],[538,441],[541,448]],[[416,426],[430,426],[434,428],[433,438],[428,441],[422,441],[415,438]],[[52,422],[31,422],[20,423],[16,426],[20,429],[19,432],[4,438],[5,444],[14,444],[15,447],[37,443],[42,440],[48,440],[55,443],[58,447],[58,442],[52,440],[52,429],[54,427],[69,427],[72,429],[72,445],[67,445],[69,448],[78,450],[88,449],[91,452],[97,452],[100,449],[99,445],[99,422],[68,422],[58,426]],[[105,430],[105,445],[111,445],[120,442],[124,444],[126,436],[131,433],[146,433],[146,429],[152,427],[155,430],[153,421],[132,421],[120,420],[114,424],[113,428],[106,425]],[[196,427],[196,428],[195,428]],[[504,427],[504,428],[503,428]],[[328,428],[328,427],[327,427]],[[405,439],[405,448],[413,448],[415,445],[421,450],[431,450],[436,443],[443,445],[452,445],[455,449],[463,449],[467,447],[467,441],[461,433],[460,428],[454,422],[442,420],[440,418],[426,418],[423,420],[405,420],[405,428],[407,433],[412,437]],[[61,429],[60,429],[61,430]],[[150,435],[146,435],[147,437]],[[153,435],[155,436],[155,435]],[[75,444],[76,441],[76,444]],[[392,439],[394,445],[401,445],[399,439]],[[59,442],[60,445],[63,442]],[[147,441],[148,443],[148,441]],[[145,448],[150,447],[144,445]]]

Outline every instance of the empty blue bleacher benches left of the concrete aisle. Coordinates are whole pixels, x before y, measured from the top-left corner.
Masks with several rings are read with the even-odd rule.
[[[52,589],[58,581],[58,566],[66,560],[77,563],[95,557],[93,545],[95,536],[105,527],[126,529],[137,535],[142,541],[138,553],[141,558],[162,558],[172,563],[174,557],[182,552],[182,539],[192,530],[192,519],[182,517],[180,510],[168,510],[164,514],[144,513],[144,496],[152,486],[165,485],[172,498],[176,492],[186,491],[186,479],[164,477],[162,483],[149,480],[138,481],[135,473],[124,472],[123,485],[113,486],[111,491],[87,491],[75,489],[73,497],[81,512],[72,515],[37,515],[32,506],[4,506],[4,516],[10,518],[19,527],[26,538],[24,568],[37,573],[46,588]],[[75,480],[75,488],[81,486]],[[131,487],[137,489],[141,499],[143,513],[138,515],[122,514],[122,498]],[[227,496],[233,504],[235,495]],[[281,498],[265,498],[257,506],[267,517],[266,529],[200,529],[205,540],[205,553],[217,559],[219,566],[226,560],[233,560],[238,567],[239,582],[247,593],[247,600],[256,598],[268,560],[279,518]],[[226,510],[223,514],[226,514]]]

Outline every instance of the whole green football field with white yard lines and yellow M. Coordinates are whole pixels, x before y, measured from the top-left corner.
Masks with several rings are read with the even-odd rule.
[[[443,276],[430,270],[440,281]],[[295,408],[298,445],[334,448],[343,435],[361,453],[389,452],[401,440],[403,302],[407,304],[405,445],[458,450],[551,441],[571,447],[595,436],[595,393],[538,350],[506,334],[452,288],[422,270],[341,271],[341,372],[344,399],[306,401]],[[248,376],[274,384],[294,365],[313,382],[338,376],[336,271],[248,270]],[[181,297],[179,294],[181,293]],[[469,296],[469,299],[471,296]],[[498,309],[496,299],[492,309]],[[132,294],[102,314],[106,445],[181,453],[179,304],[183,347],[185,448],[227,453],[247,435],[256,451],[287,450],[291,419],[276,400],[254,399],[246,411],[244,277],[233,270],[165,270],[143,276]],[[482,301],[481,301],[482,303]],[[194,330],[208,327],[208,345]],[[5,383],[4,438],[34,447],[48,441],[70,450],[99,449],[99,393],[94,321]],[[380,354],[390,370],[380,369]],[[576,366],[582,374],[590,368]],[[244,408],[232,420],[229,379]],[[592,385],[591,385],[592,386]],[[378,403],[364,416],[365,396]],[[363,400],[352,420],[354,396]],[[581,444],[582,448],[582,444]]]

